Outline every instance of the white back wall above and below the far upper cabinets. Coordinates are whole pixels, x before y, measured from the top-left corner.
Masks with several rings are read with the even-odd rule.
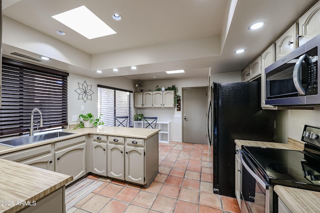
[[[143,89],[144,92],[147,92],[149,90],[154,91],[157,85],[160,88],[166,88],[172,86],[173,84],[178,88],[178,95],[181,96],[183,87],[208,86],[208,77],[143,81],[143,87],[141,89]],[[174,115],[181,115],[181,112],[182,111],[176,111],[176,107],[135,108],[135,113],[142,113],[144,116],[156,116],[158,117],[158,121],[170,121],[172,133],[171,140],[178,142],[182,141],[182,116],[180,116],[181,118],[174,118]]]

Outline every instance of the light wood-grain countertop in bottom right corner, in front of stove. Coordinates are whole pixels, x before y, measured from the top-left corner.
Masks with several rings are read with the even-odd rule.
[[[276,185],[274,192],[292,213],[318,213],[320,192]]]

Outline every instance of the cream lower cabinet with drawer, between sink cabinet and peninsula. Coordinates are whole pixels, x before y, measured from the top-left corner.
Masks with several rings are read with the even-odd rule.
[[[54,156],[55,172],[72,176],[72,182],[86,174],[85,137],[55,143]]]

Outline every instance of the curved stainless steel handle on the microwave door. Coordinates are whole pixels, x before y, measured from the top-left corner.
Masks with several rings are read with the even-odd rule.
[[[303,89],[301,80],[300,80],[301,78],[300,70],[302,69],[303,60],[305,61],[307,67],[311,67],[312,71],[314,70],[312,59],[307,54],[301,55],[299,59],[296,61],[293,68],[292,79],[293,79],[294,87],[296,88],[296,90],[300,95],[305,95],[305,90]]]

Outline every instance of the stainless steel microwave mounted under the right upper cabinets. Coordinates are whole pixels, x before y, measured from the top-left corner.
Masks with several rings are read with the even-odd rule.
[[[318,56],[320,35],[265,68],[265,104],[312,106],[320,104]]]

